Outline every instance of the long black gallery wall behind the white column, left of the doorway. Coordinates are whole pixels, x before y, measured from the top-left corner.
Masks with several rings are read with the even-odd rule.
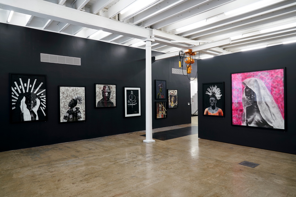
[[[0,23],[0,151],[145,130],[145,50]],[[40,53],[81,58],[81,66],[40,61]],[[161,53],[153,52],[152,56]],[[172,74],[178,58],[152,60],[152,128],[191,123],[190,83]],[[47,76],[46,122],[10,123],[9,73]],[[155,79],[178,89],[178,108],[155,119]],[[94,83],[117,84],[117,107],[94,108]],[[86,121],[59,123],[58,86],[86,86]],[[141,87],[141,117],[124,118],[123,87]],[[166,90],[165,90],[166,91]],[[143,140],[145,138],[143,137]]]

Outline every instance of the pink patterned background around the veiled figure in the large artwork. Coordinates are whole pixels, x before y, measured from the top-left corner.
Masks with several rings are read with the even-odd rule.
[[[232,81],[232,124],[242,125],[244,109],[242,105],[242,93],[245,79],[256,77],[261,79],[273,96],[284,118],[284,69],[256,71],[231,74]]]

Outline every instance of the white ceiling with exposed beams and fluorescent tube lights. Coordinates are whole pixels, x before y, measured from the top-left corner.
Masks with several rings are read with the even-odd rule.
[[[0,22],[206,57],[296,40],[296,0],[0,0]]]

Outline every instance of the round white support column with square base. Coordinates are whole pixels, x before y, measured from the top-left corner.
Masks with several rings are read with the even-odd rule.
[[[152,75],[151,75],[151,41],[146,41],[146,143],[155,142],[152,139]]]

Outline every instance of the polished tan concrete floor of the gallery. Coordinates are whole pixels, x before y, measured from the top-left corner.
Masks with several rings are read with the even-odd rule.
[[[198,134],[147,144],[141,134],[1,152],[0,196],[296,196],[296,155]]]

